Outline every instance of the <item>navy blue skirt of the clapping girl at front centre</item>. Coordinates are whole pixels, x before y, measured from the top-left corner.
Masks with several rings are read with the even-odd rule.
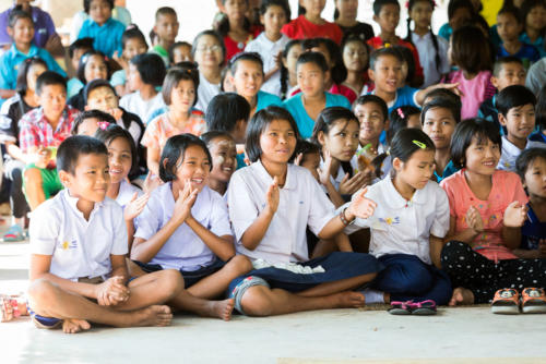
[[[228,292],[232,292],[240,281],[250,276],[264,279],[271,288],[280,288],[289,292],[300,292],[321,283],[335,282],[342,279],[378,272],[383,268],[382,264],[369,254],[347,252],[334,252],[327,256],[298,264],[311,268],[322,266],[325,271],[302,275],[274,267],[254,269],[245,276],[234,279],[229,283]]]

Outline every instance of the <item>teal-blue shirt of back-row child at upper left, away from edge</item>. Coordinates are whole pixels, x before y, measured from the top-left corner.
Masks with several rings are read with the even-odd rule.
[[[124,31],[126,26],[123,23],[111,17],[103,26],[99,26],[92,19],[87,19],[83,22],[82,28],[78,34],[78,39],[93,38],[94,49],[102,51],[108,58],[111,58],[115,51],[118,51],[118,56],[121,57],[121,36]]]

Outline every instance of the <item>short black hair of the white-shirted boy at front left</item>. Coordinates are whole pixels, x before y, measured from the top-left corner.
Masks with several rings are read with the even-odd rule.
[[[87,135],[72,135],[67,137],[57,149],[57,170],[70,174],[75,173],[78,159],[81,155],[108,156],[106,145],[99,139]]]

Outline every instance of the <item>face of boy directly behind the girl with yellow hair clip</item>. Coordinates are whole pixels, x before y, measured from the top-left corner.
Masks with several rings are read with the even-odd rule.
[[[423,122],[423,131],[432,139],[437,149],[450,147],[455,126],[456,121],[451,110],[446,108],[428,109]]]

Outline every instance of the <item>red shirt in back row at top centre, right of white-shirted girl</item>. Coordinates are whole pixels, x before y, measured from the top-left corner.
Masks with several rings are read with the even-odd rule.
[[[337,24],[325,22],[317,25],[307,20],[305,15],[299,15],[281,29],[290,39],[306,38],[330,38],[336,44],[341,44],[343,32]]]

